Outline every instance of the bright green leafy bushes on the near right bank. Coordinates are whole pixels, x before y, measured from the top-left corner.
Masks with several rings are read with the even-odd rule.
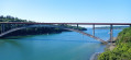
[[[131,27],[119,33],[116,44],[113,50],[106,50],[98,60],[131,60]]]

